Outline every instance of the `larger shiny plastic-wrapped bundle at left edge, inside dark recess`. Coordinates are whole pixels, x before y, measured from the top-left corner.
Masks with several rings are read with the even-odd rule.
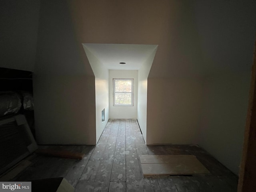
[[[17,113],[21,106],[19,94],[16,92],[0,92],[0,116]]]

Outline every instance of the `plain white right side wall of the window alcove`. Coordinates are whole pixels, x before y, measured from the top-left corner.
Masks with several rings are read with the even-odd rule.
[[[146,141],[147,138],[147,94],[148,74],[156,54],[157,47],[138,70],[138,123]]]

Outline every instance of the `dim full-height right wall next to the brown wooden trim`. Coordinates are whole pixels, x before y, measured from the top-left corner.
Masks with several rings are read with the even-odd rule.
[[[238,174],[256,33],[255,1],[195,1],[207,67],[199,144]]]

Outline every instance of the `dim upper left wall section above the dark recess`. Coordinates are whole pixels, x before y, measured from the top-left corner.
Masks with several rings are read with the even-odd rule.
[[[0,67],[34,71],[39,0],[0,1]]]

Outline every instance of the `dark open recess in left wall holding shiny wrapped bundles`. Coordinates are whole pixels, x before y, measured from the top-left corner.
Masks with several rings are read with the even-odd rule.
[[[35,137],[32,74],[0,67],[0,120],[24,114]]]

